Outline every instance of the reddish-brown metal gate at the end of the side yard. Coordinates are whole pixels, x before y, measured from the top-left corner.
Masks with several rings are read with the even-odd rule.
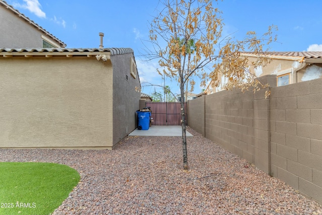
[[[188,124],[188,105],[185,105],[186,124]],[[180,102],[145,102],[151,108],[152,125],[181,125]]]

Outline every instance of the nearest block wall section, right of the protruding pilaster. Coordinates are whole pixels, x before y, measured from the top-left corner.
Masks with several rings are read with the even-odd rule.
[[[322,79],[273,88],[271,175],[322,202]]]

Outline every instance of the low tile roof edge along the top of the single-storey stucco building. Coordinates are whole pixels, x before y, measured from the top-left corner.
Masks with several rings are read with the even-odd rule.
[[[0,48],[0,53],[61,53],[78,52],[78,53],[93,53],[93,52],[110,52],[111,55],[134,53],[131,48]]]

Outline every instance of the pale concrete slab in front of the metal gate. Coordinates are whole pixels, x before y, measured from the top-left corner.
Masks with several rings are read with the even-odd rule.
[[[186,131],[187,137],[193,136]],[[182,136],[181,126],[151,126],[148,130],[133,130],[129,136]]]

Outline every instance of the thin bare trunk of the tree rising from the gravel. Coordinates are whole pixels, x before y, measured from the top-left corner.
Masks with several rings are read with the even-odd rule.
[[[181,91],[181,126],[182,126],[182,150],[183,150],[183,168],[188,169],[188,155],[187,155],[187,136],[186,136],[186,117],[185,117],[185,103],[184,103],[184,82],[180,82]]]

